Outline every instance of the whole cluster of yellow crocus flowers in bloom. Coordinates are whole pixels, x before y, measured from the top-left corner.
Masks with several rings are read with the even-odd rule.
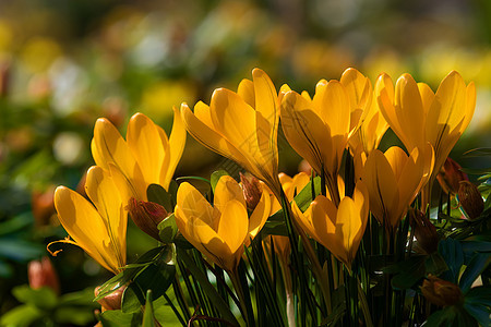
[[[175,217],[180,232],[208,259],[233,271],[243,244],[278,210],[278,202],[291,202],[309,182],[304,173],[294,179],[278,175],[282,121],[288,143],[323,177],[328,190],[304,211],[295,201],[285,209],[302,233],[349,267],[369,210],[394,231],[418,193],[427,207],[431,184],[469,124],[476,104],[474,83],[466,85],[457,72],[451,72],[434,93],[409,74],[395,86],[381,74],[372,87],[369,78],[348,69],[339,81],[320,81],[313,97],[287,85],[278,93],[260,69],[252,77],[243,80],[237,92],[216,89],[209,106],[200,101],[193,111],[187,104],[180,112],[175,109],[169,138],[141,113],[131,118],[125,141],[110,122],[99,119],[92,142],[97,166],[88,170],[85,184],[92,204],[64,186],[56,191],[59,219],[73,238],[61,242],[74,243],[105,268],[120,271],[125,265],[127,205],[131,198],[147,201],[152,183],[169,187],[188,131],[264,182],[249,211],[243,185],[228,175],[216,184],[213,206],[190,183],[179,186]],[[407,153],[396,146],[385,153],[378,149],[388,126]],[[350,196],[339,178],[345,150],[355,162]]]

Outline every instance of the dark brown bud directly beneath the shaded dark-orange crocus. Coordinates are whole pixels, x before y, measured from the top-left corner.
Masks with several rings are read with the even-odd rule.
[[[419,247],[427,254],[436,252],[439,246],[439,234],[436,228],[428,219],[427,215],[420,210],[411,209],[409,211],[409,221],[415,230],[415,237]]]

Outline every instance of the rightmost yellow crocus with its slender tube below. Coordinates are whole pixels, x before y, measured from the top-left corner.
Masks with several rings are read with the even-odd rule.
[[[452,71],[436,93],[424,83],[416,83],[409,74],[397,80],[393,92],[391,83],[385,83],[376,95],[391,129],[408,152],[423,148],[426,143],[433,147],[434,165],[428,171],[428,184],[422,194],[422,206],[426,207],[434,178],[472,118],[476,86],[472,82],[466,86],[463,77]]]

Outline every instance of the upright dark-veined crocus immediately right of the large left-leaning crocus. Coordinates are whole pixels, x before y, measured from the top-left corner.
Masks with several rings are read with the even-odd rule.
[[[321,80],[312,99],[288,92],[282,100],[282,126],[291,147],[321,175],[339,204],[337,173],[348,143],[351,105],[338,81]]]

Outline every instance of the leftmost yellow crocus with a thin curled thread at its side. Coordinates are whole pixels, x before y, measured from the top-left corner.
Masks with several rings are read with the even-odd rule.
[[[59,186],[55,192],[58,219],[73,239],[104,268],[118,274],[127,263],[127,217],[121,196],[109,172],[94,166],[87,171],[85,192],[92,205],[79,193]],[[56,255],[58,253],[52,253]]]

